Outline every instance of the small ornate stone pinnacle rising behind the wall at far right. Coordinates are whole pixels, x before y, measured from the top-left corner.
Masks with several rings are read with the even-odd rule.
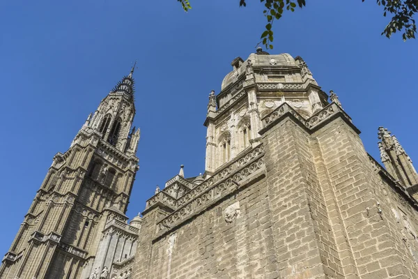
[[[412,160],[399,144],[398,139],[391,135],[387,128],[378,128],[380,159],[387,171],[405,187],[418,183],[418,174]]]

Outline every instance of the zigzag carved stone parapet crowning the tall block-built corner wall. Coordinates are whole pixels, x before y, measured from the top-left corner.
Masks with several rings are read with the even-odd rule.
[[[321,123],[328,121],[332,118],[332,116],[336,116],[337,114],[343,116],[343,119],[351,124],[350,116],[348,116],[348,114],[346,114],[346,112],[344,112],[343,109],[335,103],[327,105],[322,110],[316,112],[311,117],[309,117],[309,119],[304,119],[300,114],[293,110],[293,107],[291,107],[287,103],[284,103],[283,105],[277,107],[277,109],[272,111],[270,114],[267,114],[263,117],[262,121],[264,128],[260,130],[260,133],[263,134],[266,130],[268,130],[270,126],[273,125],[273,123],[276,123],[277,121],[279,121],[279,119],[289,114],[294,116],[297,120],[300,121],[300,123],[302,123],[303,126],[309,128],[310,130],[319,127]],[[355,126],[353,126],[353,128],[355,128]],[[355,128],[355,130],[357,130],[357,128]]]

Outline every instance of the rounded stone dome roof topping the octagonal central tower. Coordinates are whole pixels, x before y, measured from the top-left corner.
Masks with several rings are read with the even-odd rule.
[[[259,49],[258,49],[259,50]],[[245,75],[245,67],[247,66],[248,59],[251,59],[254,68],[257,67],[294,67],[297,66],[295,59],[288,53],[282,54],[268,54],[268,52],[258,51],[256,53],[249,54],[247,60],[242,61],[240,57],[234,59],[232,65],[233,70],[228,73],[224,80],[222,80],[221,90],[224,90],[229,84],[236,82],[238,77]]]

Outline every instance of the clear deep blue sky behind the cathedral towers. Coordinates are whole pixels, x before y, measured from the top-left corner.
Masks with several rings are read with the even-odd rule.
[[[140,169],[127,215],[155,186],[204,171],[208,94],[231,61],[255,51],[265,18],[259,1],[0,1],[0,254],[6,253],[55,153],[138,59]],[[162,5],[162,6],[159,6]],[[379,160],[378,126],[412,160],[417,132],[418,42],[380,36],[389,19],[376,1],[307,1],[275,23],[274,50],[300,55],[334,90]]]

